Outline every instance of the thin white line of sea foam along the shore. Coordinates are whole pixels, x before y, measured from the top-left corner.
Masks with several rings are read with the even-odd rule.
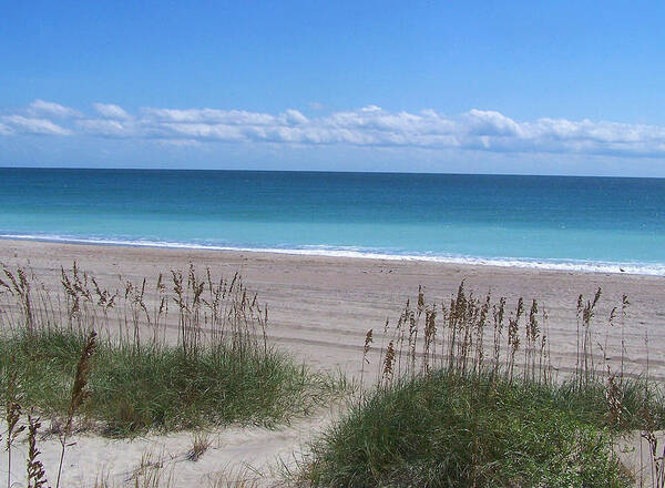
[[[500,267],[521,267],[534,270],[569,271],[581,273],[626,273],[649,276],[665,276],[665,263],[614,263],[614,262],[591,262],[580,260],[534,260],[521,257],[477,257],[477,256],[448,256],[430,254],[398,254],[382,251],[364,250],[360,247],[330,247],[326,245],[303,246],[298,248],[287,247],[244,247],[226,246],[201,243],[147,241],[147,240],[117,240],[117,238],[98,238],[98,237],[73,237],[61,235],[32,235],[32,234],[0,234],[0,238],[12,238],[23,241],[47,241],[71,244],[96,244],[96,245],[120,245],[139,247],[166,247],[166,248],[186,248],[186,250],[207,250],[207,251],[242,251],[277,253],[305,256],[331,256],[331,257],[355,257],[387,261],[424,261],[433,263],[449,264],[470,264],[480,266],[500,266]]]

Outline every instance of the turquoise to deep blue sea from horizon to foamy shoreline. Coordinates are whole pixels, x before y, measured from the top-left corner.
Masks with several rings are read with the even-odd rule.
[[[0,169],[0,235],[665,274],[665,180]]]

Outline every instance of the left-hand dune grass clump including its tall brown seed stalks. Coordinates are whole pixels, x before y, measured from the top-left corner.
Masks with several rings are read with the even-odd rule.
[[[268,344],[267,307],[239,275],[214,279],[209,271],[198,276],[190,267],[173,271],[171,281],[171,294],[162,275],[154,286],[122,282],[109,292],[74,265],[62,270],[60,308],[41,286],[21,288],[17,281],[28,299],[12,285],[3,287],[0,367],[21,365],[22,404],[63,418],[64,438],[75,417],[98,423],[105,435],[131,436],[229,423],[274,426],[308,414],[340,386]],[[34,307],[30,328],[25,303]],[[171,313],[168,303],[175,305]],[[82,363],[91,324],[106,334]],[[165,338],[168,327],[177,331],[173,343]]]

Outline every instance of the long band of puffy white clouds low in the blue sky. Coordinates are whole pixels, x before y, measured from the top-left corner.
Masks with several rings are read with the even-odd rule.
[[[131,113],[94,103],[88,114],[35,100],[0,115],[0,136],[20,134],[114,138],[172,144],[273,143],[366,148],[460,149],[501,153],[579,153],[665,156],[665,126],[603,121],[515,121],[500,112],[470,110],[448,116],[433,110],[390,112],[376,105],[308,118],[244,110],[143,108]]]

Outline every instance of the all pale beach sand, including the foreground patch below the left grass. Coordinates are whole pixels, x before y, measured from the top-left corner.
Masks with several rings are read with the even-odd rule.
[[[117,286],[119,276],[140,282],[156,279],[158,273],[172,268],[186,270],[194,264],[203,272],[233,275],[239,272],[247,287],[258,293],[269,306],[268,337],[289,349],[298,358],[319,369],[340,368],[358,377],[361,367],[364,337],[374,328],[375,346],[381,344],[386,318],[395,322],[405,302],[413,299],[418,286],[426,289],[429,302],[448,302],[460,282],[477,295],[491,292],[505,296],[510,308],[518,297],[528,305],[536,298],[549,315],[552,363],[561,375],[574,367],[576,347],[575,306],[577,296],[592,298],[598,287],[595,325],[600,342],[616,365],[621,350],[621,327],[608,327],[607,317],[620,306],[622,295],[631,302],[625,326],[625,368],[642,374],[648,365],[649,375],[665,379],[665,277],[628,274],[593,274],[554,272],[515,267],[471,266],[422,261],[389,261],[301,256],[255,252],[193,251],[130,246],[92,246],[28,241],[0,241],[0,262],[7,265],[29,265],[52,289],[59,288],[60,267],[73,262],[100,278],[108,286]],[[175,328],[174,328],[175,334]],[[648,354],[645,343],[648,340]],[[370,354],[375,367],[378,347]],[[367,368],[366,368],[367,370]],[[367,374],[367,373],[366,373]],[[370,377],[374,373],[367,374]],[[329,418],[297,421],[289,428],[267,431],[252,428],[226,429],[221,441],[196,464],[183,458],[191,435],[178,434],[135,441],[110,441],[95,436],[78,436],[80,455],[68,455],[65,486],[90,486],[101,472],[105,457],[110,479],[124,481],[144,450],[166,450],[175,468],[175,486],[191,486],[221,467],[237,468],[244,461],[265,467],[277,455],[289,457]],[[52,458],[57,443],[44,445],[44,458]],[[243,446],[242,449],[238,446]],[[238,450],[239,449],[239,450]],[[241,453],[241,454],[238,454]],[[6,462],[2,459],[1,462]],[[18,469],[17,469],[18,467]],[[17,479],[22,464],[17,462]],[[0,465],[4,470],[6,465]],[[53,472],[47,464],[49,472]],[[88,485],[86,485],[88,484]],[[205,485],[204,485],[205,486]]]

